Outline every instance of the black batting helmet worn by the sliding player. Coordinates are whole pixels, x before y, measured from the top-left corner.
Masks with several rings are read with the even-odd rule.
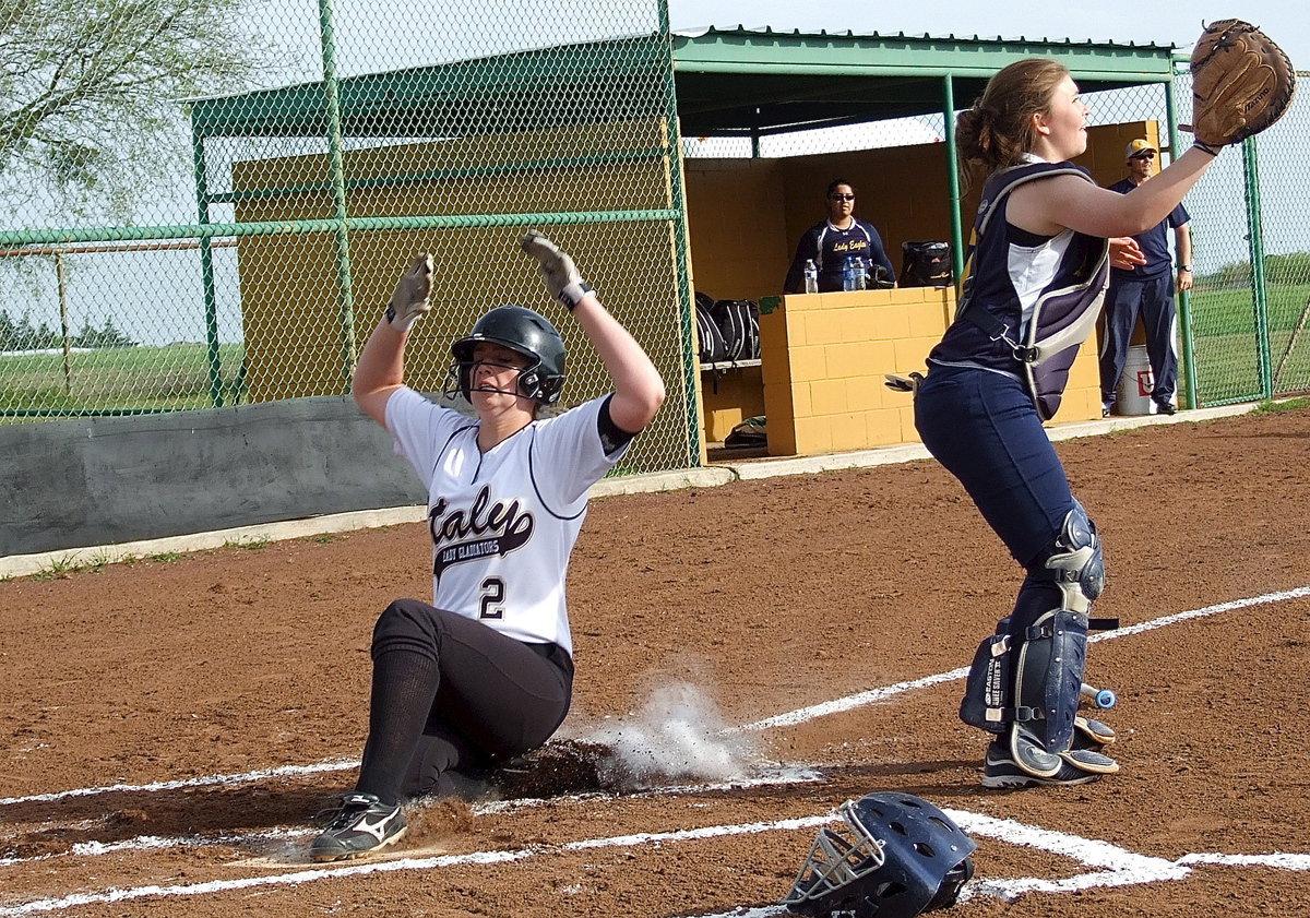
[[[519,373],[519,394],[538,405],[558,401],[565,385],[565,342],[545,316],[524,306],[496,306],[474,323],[473,331],[451,344],[455,356],[451,376],[465,398],[473,385],[473,348],[483,340],[508,347],[531,361]]]

